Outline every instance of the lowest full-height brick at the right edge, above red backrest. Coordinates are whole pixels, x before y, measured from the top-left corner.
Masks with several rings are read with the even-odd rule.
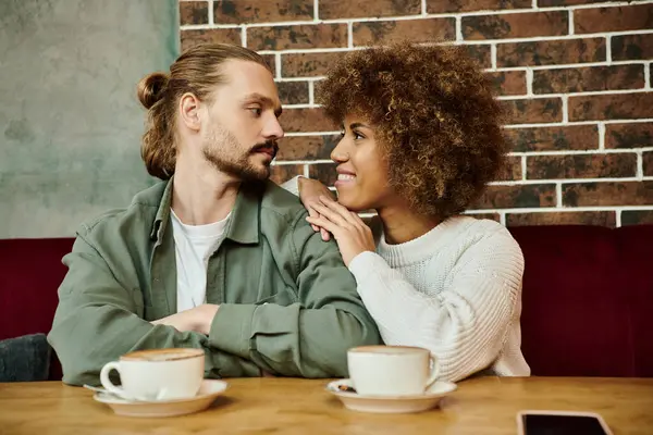
[[[563,204],[566,207],[653,204],[653,182],[564,184]]]

